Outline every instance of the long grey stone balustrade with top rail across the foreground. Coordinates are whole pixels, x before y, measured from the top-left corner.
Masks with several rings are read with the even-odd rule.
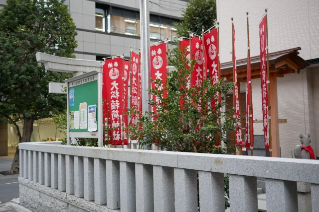
[[[258,211],[257,177],[266,178],[268,212],[298,211],[298,181],[311,183],[312,210],[319,211],[317,160],[59,142],[19,149],[20,204],[31,211],[197,212],[199,196],[200,212],[222,212],[225,173],[231,212]]]

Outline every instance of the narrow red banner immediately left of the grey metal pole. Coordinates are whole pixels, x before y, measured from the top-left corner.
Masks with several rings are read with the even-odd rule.
[[[138,90],[139,90],[139,55],[131,52],[131,108],[135,107],[138,110]],[[138,117],[136,113],[131,111],[131,125],[136,126]]]

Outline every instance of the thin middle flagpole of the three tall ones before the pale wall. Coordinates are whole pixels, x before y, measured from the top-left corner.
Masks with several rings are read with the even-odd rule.
[[[252,81],[251,81],[251,65],[250,65],[250,43],[249,43],[249,21],[248,21],[248,12],[247,14],[247,39],[248,39],[248,57],[247,57],[247,77],[248,77],[248,83],[249,83],[249,91],[247,95],[249,95],[249,139],[250,139],[250,149],[251,149],[251,156],[254,155],[254,139],[253,139],[253,117],[252,117]]]

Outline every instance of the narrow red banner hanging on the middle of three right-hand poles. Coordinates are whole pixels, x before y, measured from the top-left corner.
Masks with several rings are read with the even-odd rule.
[[[253,119],[253,96],[251,89],[250,51],[247,53],[247,86],[246,86],[246,148],[253,147],[254,119]],[[251,112],[250,108],[251,107]],[[251,124],[251,126],[250,126]],[[251,127],[251,129],[250,129]]]

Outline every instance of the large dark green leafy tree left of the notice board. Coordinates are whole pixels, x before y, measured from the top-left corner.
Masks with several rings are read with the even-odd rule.
[[[29,142],[34,120],[65,112],[66,96],[48,93],[49,82],[69,74],[45,71],[36,52],[74,58],[76,27],[63,0],[7,0],[0,11],[0,118]],[[22,120],[22,132],[17,122]],[[19,170],[18,147],[10,172]]]

